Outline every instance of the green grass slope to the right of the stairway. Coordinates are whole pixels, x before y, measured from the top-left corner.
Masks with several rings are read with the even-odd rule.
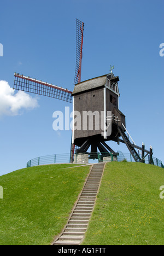
[[[107,164],[83,245],[163,245],[161,185],[163,168]]]

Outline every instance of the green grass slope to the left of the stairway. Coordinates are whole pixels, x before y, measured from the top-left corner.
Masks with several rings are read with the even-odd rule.
[[[88,173],[88,166],[48,165],[1,176],[0,245],[50,245],[66,225]]]

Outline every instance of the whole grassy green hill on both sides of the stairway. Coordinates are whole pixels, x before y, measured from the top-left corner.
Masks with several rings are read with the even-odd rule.
[[[0,245],[50,245],[67,223],[88,173],[88,166],[48,165],[1,176]],[[83,244],[163,245],[161,185],[160,167],[108,163]]]

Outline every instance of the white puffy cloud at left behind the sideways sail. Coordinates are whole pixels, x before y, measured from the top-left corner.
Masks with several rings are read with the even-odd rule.
[[[38,100],[24,91],[13,90],[8,82],[0,80],[0,116],[19,115],[22,109],[38,107]]]

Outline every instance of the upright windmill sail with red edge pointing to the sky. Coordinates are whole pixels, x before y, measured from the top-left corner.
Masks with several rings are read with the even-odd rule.
[[[75,78],[74,84],[81,82],[81,61],[83,57],[83,32],[84,32],[84,22],[76,19],[77,24],[77,59],[75,67]]]

